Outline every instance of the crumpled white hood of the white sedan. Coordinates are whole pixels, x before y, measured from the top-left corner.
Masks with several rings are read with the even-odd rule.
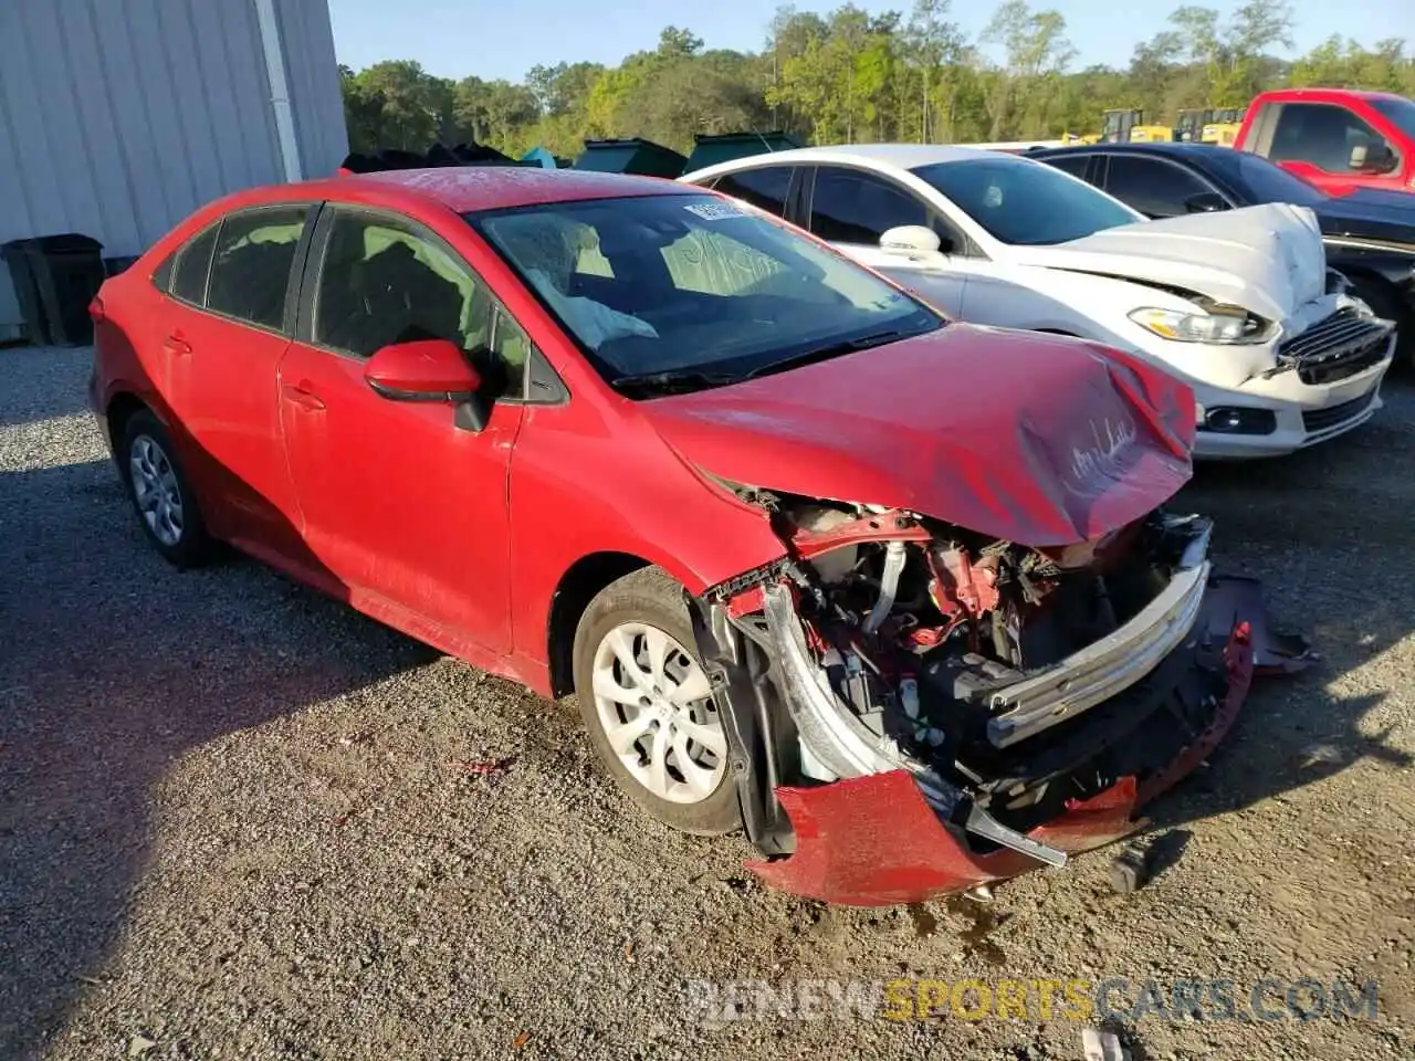
[[[1172,284],[1269,321],[1286,320],[1326,291],[1317,216],[1286,202],[1138,221],[1070,243],[1012,250],[1019,265]]]

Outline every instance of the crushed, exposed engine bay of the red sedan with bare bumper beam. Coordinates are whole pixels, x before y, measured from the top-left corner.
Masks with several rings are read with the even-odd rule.
[[[1217,642],[1200,621],[1201,516],[1159,509],[1094,540],[1032,547],[900,509],[744,499],[767,508],[788,557],[710,590],[699,647],[723,671],[737,740],[766,748],[743,771],[773,789],[907,771],[969,850],[1061,864],[1064,852],[1027,832],[1122,778],[1160,778],[1224,699],[1235,617]],[[771,818],[770,804],[764,821],[749,813],[749,833],[790,853]]]

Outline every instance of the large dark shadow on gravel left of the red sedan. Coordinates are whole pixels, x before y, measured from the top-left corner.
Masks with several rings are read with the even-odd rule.
[[[255,563],[177,573],[109,461],[0,472],[0,1057],[28,1058],[102,976],[173,763],[430,651]]]

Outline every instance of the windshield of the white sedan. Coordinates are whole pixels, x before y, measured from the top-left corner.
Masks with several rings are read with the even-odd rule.
[[[1065,243],[1145,218],[1046,163],[1010,154],[913,171],[1003,243]]]

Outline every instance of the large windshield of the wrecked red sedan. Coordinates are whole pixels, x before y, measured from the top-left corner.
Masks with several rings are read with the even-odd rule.
[[[730,382],[941,327],[940,314],[785,224],[717,195],[467,215],[610,383]],[[839,347],[839,349],[836,349]]]

